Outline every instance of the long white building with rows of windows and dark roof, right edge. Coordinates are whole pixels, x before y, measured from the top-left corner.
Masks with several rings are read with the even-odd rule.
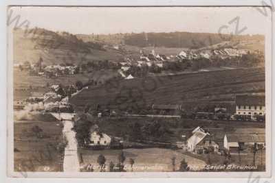
[[[236,114],[265,115],[265,96],[260,95],[237,95],[236,96]]]

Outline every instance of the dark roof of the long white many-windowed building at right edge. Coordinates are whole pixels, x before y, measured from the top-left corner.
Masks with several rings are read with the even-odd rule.
[[[237,106],[265,106],[265,96],[236,95]]]

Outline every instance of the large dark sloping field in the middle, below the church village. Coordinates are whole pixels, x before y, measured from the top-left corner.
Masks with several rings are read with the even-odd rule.
[[[135,78],[120,80],[104,86],[89,86],[71,99],[83,108],[87,105],[108,106],[120,110],[142,110],[155,104],[192,106],[234,105],[234,96],[245,93],[265,93],[264,69],[235,69],[204,73]],[[201,104],[198,104],[201,103]]]

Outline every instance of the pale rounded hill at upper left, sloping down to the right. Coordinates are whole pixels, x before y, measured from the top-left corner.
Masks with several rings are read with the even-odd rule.
[[[44,64],[85,62],[87,60],[121,60],[122,54],[104,49],[97,42],[83,42],[67,32],[51,32],[46,29],[16,29],[13,34],[14,62],[35,63],[42,57]]]

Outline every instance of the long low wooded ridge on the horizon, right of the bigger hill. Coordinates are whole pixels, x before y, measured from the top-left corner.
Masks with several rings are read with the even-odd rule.
[[[170,47],[170,48],[189,48],[200,49],[211,45],[217,45],[223,42],[248,42],[250,45],[257,45],[257,42],[263,42],[261,35],[242,35],[233,36],[227,34],[210,33],[192,33],[192,32],[169,32],[169,33],[127,33],[127,34],[89,34],[76,35],[84,42],[104,42],[111,45],[131,45],[135,47]],[[261,45],[262,46],[262,45]]]

